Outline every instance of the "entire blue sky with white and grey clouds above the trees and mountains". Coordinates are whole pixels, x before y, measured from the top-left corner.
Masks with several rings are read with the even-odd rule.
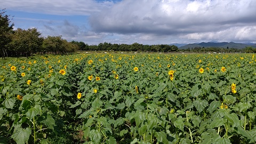
[[[89,45],[256,43],[255,0],[1,0],[15,28]]]

